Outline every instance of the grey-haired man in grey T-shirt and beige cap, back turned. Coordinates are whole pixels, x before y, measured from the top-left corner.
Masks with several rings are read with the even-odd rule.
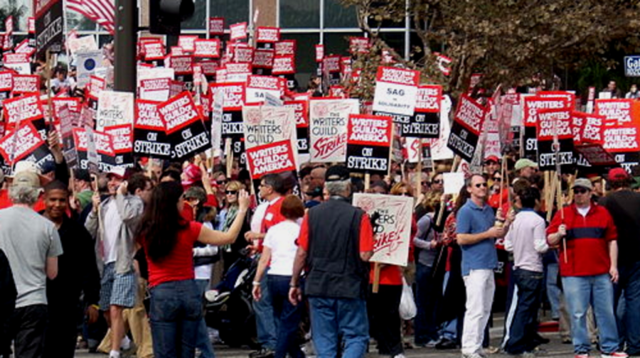
[[[19,164],[19,163],[18,163]],[[13,206],[0,210],[0,249],[14,273],[18,289],[10,336],[16,357],[42,357],[47,326],[47,278],[58,276],[62,244],[53,222],[33,210],[41,192],[35,166],[14,175],[9,187]]]

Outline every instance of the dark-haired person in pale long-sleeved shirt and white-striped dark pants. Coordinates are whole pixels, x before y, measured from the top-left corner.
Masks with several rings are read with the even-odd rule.
[[[518,197],[522,208],[505,237],[506,250],[513,251],[517,288],[517,303],[511,305],[507,315],[504,350],[508,354],[533,352],[538,345],[538,308],[544,277],[541,254],[549,249],[545,220],[535,212],[540,206],[540,192],[526,188]]]

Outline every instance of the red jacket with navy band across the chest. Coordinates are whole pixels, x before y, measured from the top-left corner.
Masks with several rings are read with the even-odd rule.
[[[547,234],[558,232],[560,224],[567,226],[567,262],[560,241],[560,276],[593,276],[608,273],[611,267],[609,242],[618,234],[613,218],[604,207],[591,204],[587,216],[577,211],[575,204],[562,209],[565,219],[556,212]]]

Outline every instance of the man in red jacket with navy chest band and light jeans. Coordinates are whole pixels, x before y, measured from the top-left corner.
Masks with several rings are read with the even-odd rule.
[[[593,185],[589,179],[576,179],[571,189],[574,202],[555,213],[547,229],[547,242],[560,247],[560,276],[571,318],[575,358],[587,358],[591,349],[587,333],[590,303],[598,322],[602,357],[627,357],[619,352],[614,315],[613,283],[618,281],[614,219],[605,207],[592,203]]]

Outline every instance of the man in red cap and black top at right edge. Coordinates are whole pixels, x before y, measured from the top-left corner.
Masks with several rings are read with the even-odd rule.
[[[640,355],[640,193],[631,190],[633,178],[626,170],[609,170],[612,191],[600,200],[618,230],[619,288],[624,292],[626,353]]]

